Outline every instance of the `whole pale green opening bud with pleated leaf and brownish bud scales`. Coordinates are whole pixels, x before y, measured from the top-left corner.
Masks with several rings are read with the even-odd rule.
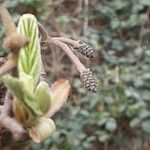
[[[18,55],[19,77],[6,75],[2,80],[14,94],[15,119],[29,131],[35,142],[40,143],[54,132],[55,124],[49,117],[67,100],[70,84],[68,80],[59,80],[49,88],[46,82],[39,81],[41,48],[37,20],[33,15],[25,14],[20,18],[17,32],[29,39]]]

